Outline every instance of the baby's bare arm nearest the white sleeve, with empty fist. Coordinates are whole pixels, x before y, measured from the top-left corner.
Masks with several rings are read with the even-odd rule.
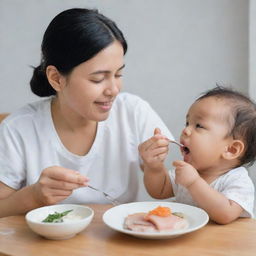
[[[173,165],[176,167],[175,182],[188,189],[192,198],[213,221],[227,224],[240,216],[242,207],[214,190],[192,165],[183,161],[175,161]]]

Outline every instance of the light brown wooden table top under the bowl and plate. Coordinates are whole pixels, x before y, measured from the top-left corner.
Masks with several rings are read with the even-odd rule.
[[[210,222],[202,229],[174,239],[147,240],[107,227],[102,215],[110,205],[89,206],[95,210],[92,223],[69,240],[47,240],[34,234],[24,216],[0,218],[0,255],[256,255],[255,219],[238,219],[228,225]]]

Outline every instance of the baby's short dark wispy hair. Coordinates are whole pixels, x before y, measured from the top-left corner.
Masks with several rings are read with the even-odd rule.
[[[206,91],[198,99],[216,97],[227,101],[231,109],[228,117],[230,130],[227,134],[234,139],[240,139],[245,144],[245,150],[240,157],[241,165],[251,166],[256,160],[256,104],[242,93],[223,86]]]

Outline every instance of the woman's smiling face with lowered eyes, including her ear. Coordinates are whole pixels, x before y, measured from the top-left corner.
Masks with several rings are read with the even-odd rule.
[[[85,120],[107,119],[122,87],[123,68],[124,52],[118,41],[75,67],[61,78],[58,100],[62,111]]]

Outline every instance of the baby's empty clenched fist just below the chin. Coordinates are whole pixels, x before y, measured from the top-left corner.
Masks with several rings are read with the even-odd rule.
[[[175,183],[185,188],[188,188],[200,177],[197,170],[184,161],[174,161],[173,166],[176,167]]]

